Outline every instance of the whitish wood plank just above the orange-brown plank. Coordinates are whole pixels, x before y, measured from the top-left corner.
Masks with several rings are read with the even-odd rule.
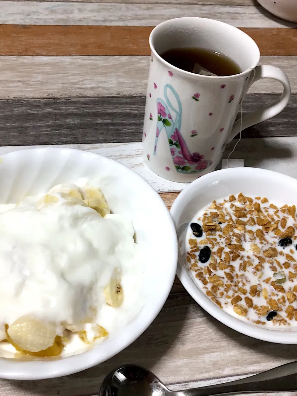
[[[107,4],[67,2],[15,2],[2,0],[0,24],[9,25],[129,25],[155,26],[177,17],[204,17],[237,27],[291,27],[280,19],[267,17],[256,6],[171,4],[164,13],[162,4]]]

